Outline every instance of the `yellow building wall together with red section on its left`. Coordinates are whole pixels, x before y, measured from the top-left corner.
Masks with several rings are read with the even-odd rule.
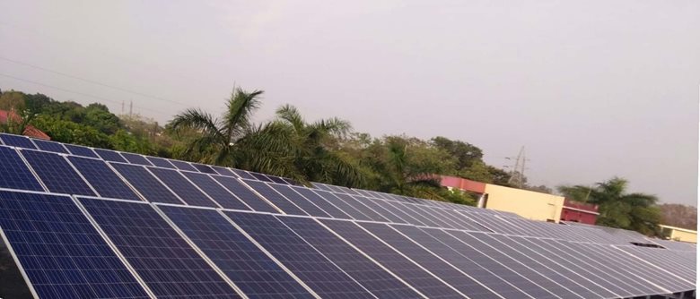
[[[564,209],[564,197],[486,184],[454,176],[442,176],[441,184],[448,188],[481,194],[479,207],[512,212],[523,218],[559,222]],[[568,212],[567,212],[568,213]]]

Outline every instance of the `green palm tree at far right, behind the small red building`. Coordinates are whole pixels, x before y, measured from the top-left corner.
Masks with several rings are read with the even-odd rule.
[[[626,193],[627,181],[613,177],[594,186],[559,186],[564,196],[597,204],[599,217],[596,224],[635,230],[644,235],[658,235],[661,211],[655,206],[658,199],[644,193]]]

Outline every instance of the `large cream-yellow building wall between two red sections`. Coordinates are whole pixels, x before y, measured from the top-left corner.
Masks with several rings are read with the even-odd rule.
[[[559,222],[564,207],[564,197],[547,193],[486,184],[488,194],[486,209],[498,209],[518,214],[524,218]]]

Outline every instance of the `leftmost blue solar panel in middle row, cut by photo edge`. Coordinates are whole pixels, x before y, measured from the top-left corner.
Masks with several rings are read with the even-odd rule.
[[[39,180],[13,148],[0,146],[0,174],[2,188],[44,191]]]

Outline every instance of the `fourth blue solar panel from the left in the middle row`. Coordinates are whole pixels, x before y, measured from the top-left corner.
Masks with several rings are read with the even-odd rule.
[[[129,184],[134,186],[141,195],[144,195],[147,201],[182,204],[182,201],[179,201],[175,194],[168,190],[144,167],[119,163],[110,163],[110,165],[117,169],[119,174],[124,176]]]

